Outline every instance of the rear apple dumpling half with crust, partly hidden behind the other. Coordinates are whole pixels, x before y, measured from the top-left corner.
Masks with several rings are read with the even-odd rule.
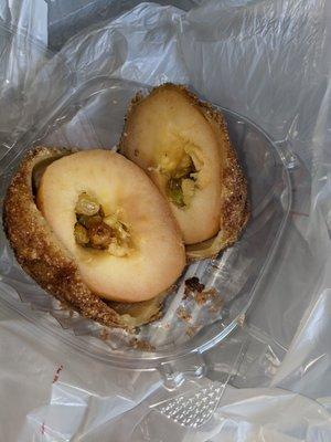
[[[120,151],[168,200],[190,259],[233,244],[248,219],[247,185],[221,113],[164,84],[129,106]]]

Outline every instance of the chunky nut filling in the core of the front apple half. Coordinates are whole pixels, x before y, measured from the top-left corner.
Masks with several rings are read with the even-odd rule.
[[[128,227],[119,220],[120,211],[105,214],[102,204],[87,192],[82,192],[75,207],[75,240],[83,248],[104,250],[115,256],[132,252]]]

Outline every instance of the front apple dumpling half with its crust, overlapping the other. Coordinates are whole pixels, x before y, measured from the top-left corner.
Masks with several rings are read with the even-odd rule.
[[[22,267],[108,326],[151,320],[185,265],[166,200],[138,166],[110,150],[31,151],[8,189],[3,220]]]

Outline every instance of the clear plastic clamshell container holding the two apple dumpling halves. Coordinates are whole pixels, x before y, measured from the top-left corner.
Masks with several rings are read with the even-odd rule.
[[[114,148],[130,99],[137,92],[148,91],[146,85],[107,76],[81,82],[77,87],[68,67],[63,65],[62,69],[60,74],[68,81],[61,98],[45,107],[43,115],[34,115],[32,120],[38,124],[20,134],[10,149],[1,150],[1,201],[13,170],[28,149],[41,144]],[[263,282],[271,275],[273,257],[291,207],[289,169],[293,157],[289,150],[273,143],[253,122],[229,109],[220,109],[248,178],[252,218],[234,246],[215,260],[200,261],[188,267],[177,290],[168,296],[161,319],[142,326],[137,336],[131,336],[63,309],[17,264],[1,229],[0,304],[3,308],[13,308],[34,322],[43,339],[49,334],[55,335],[66,345],[107,364],[137,369],[163,367],[170,379],[175,377],[173,373],[188,370],[200,373],[203,367],[200,355],[243,325],[253,301],[258,302]],[[218,296],[204,305],[184,299],[184,281],[194,275],[206,288],[215,288]],[[40,314],[35,315],[35,311]],[[188,314],[185,319],[182,312]],[[153,350],[132,348],[136,339],[148,341]],[[183,367],[178,368],[181,361]]]

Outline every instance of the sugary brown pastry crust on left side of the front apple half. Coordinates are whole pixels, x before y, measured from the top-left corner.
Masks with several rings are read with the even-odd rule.
[[[76,263],[60,244],[35,206],[32,173],[35,166],[71,151],[38,147],[14,173],[3,204],[3,225],[15,257],[45,291],[83,316],[110,327],[125,327],[118,315],[82,281]]]

